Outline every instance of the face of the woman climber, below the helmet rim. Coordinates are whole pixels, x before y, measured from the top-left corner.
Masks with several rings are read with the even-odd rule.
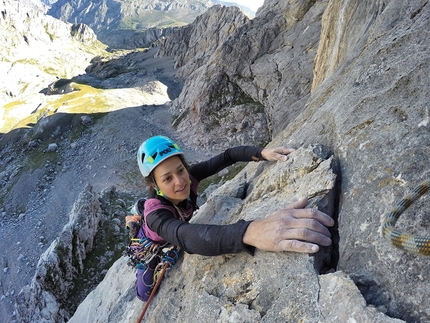
[[[178,156],[167,158],[155,167],[154,179],[165,197],[175,205],[190,195],[190,176]]]

